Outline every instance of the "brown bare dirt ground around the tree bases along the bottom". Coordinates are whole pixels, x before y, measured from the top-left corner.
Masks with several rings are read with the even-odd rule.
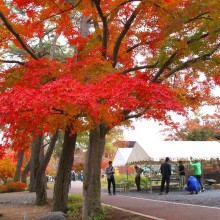
[[[51,211],[51,204],[51,201],[46,206],[7,202],[2,203],[0,204],[0,213],[2,214],[0,220],[36,220]],[[26,218],[24,218],[25,215]],[[81,218],[69,218],[68,220],[81,220]],[[106,220],[149,220],[149,218],[113,209],[111,207],[106,212]]]

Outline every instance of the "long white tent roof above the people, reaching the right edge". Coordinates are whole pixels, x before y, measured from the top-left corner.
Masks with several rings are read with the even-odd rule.
[[[188,161],[190,157],[210,160],[220,158],[220,144],[216,141],[157,141],[139,144],[136,142],[127,160],[128,164],[161,161]]]

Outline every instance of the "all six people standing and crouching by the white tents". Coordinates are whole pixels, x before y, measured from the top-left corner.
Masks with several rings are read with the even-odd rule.
[[[160,172],[162,175],[161,186],[160,186],[160,195],[164,193],[165,183],[166,183],[166,191],[165,194],[169,193],[170,190],[170,177],[171,177],[171,164],[169,163],[169,157],[166,157],[165,161],[160,166]],[[190,158],[189,165],[194,170],[194,176],[189,176],[187,183],[186,183],[186,171],[182,161],[179,161],[178,172],[179,172],[179,183],[181,190],[187,190],[190,194],[198,194],[199,191],[204,192],[204,184],[201,179],[202,169],[201,163],[199,160],[195,159],[192,162],[192,158]],[[137,165],[134,166],[135,169],[135,184],[137,186],[137,191],[141,191],[140,183],[141,183],[141,173],[144,171],[142,168],[138,167]],[[113,187],[113,195],[116,195],[115,191],[115,169],[112,166],[112,161],[109,161],[109,166],[105,170],[105,174],[107,176],[108,181],[108,193],[112,195],[111,192],[111,185]],[[185,184],[187,184],[185,188]],[[184,189],[185,188],[185,189]]]

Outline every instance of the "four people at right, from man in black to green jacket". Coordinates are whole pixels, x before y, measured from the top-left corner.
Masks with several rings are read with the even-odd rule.
[[[201,179],[201,175],[202,175],[201,163],[197,159],[195,159],[193,163],[192,158],[190,158],[189,165],[193,167],[194,176],[189,176],[187,180],[187,187],[185,189],[189,191],[190,194],[193,193],[198,194],[200,189],[202,192],[204,192],[205,191],[204,184]],[[160,195],[162,195],[164,192],[165,183],[166,183],[166,194],[168,194],[170,189],[170,176],[171,176],[171,165],[169,164],[169,157],[166,157],[165,162],[161,164],[160,171],[162,174]],[[184,190],[186,179],[185,179],[185,167],[182,161],[179,161],[178,171],[180,177],[180,188]]]

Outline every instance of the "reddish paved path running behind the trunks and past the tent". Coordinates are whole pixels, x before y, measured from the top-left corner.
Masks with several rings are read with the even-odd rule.
[[[70,193],[81,194],[82,183],[72,182]],[[125,210],[138,212],[143,215],[152,216],[152,219],[166,220],[218,220],[220,219],[220,208],[198,206],[192,204],[180,204],[168,201],[138,198],[135,194],[131,196],[119,193],[116,196],[109,196],[102,193],[102,203],[119,207]],[[169,195],[168,195],[169,196]]]

